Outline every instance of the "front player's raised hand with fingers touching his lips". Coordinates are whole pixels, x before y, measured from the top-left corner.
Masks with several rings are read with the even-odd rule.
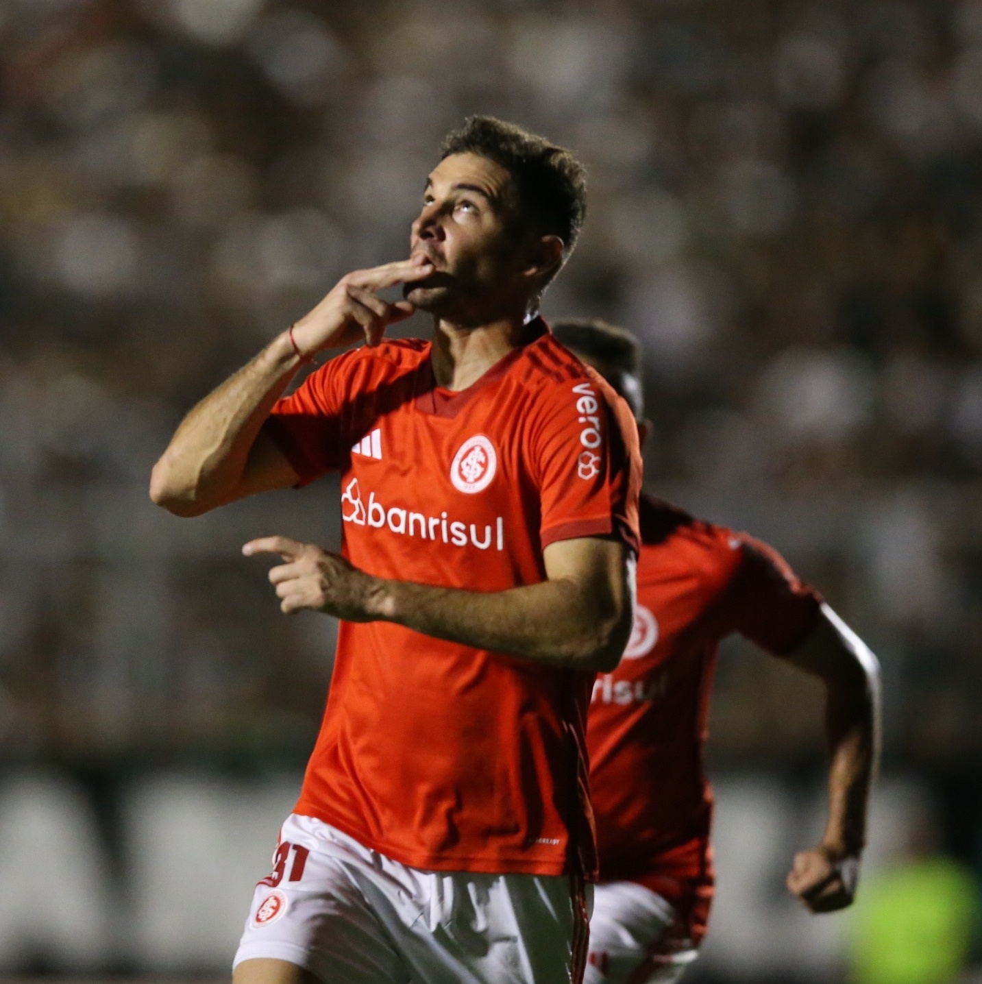
[[[433,273],[425,257],[399,260],[371,270],[356,270],[338,280],[327,296],[293,326],[293,338],[304,354],[339,348],[364,337],[377,345],[386,328],[408,318],[415,308],[408,301],[390,303],[378,295],[386,287],[411,283]]]

